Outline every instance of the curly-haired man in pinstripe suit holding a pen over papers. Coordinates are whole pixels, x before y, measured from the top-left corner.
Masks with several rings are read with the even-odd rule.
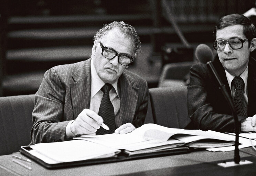
[[[124,22],[104,25],[94,36],[91,58],[47,70],[35,94],[32,113],[32,143],[71,140],[95,135],[103,96],[109,92],[115,111],[115,133],[128,133],[144,123],[148,106],[146,80],[125,70],[140,50],[135,29]]]

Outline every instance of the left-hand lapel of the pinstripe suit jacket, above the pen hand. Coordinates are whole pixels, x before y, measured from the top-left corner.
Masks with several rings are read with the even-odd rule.
[[[70,92],[74,118],[83,109],[89,109],[90,107],[90,61],[91,59],[88,59],[79,65],[76,72],[72,75],[74,82],[70,84]]]

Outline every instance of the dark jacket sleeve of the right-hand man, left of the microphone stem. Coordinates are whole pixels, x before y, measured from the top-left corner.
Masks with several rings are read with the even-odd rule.
[[[218,87],[205,64],[193,65],[188,86],[189,116],[197,129],[234,132],[232,112]],[[239,116],[238,120],[244,118]]]

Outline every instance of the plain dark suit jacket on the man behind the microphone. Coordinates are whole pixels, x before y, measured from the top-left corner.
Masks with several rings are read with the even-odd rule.
[[[231,96],[225,70],[218,58],[213,65]],[[254,58],[250,58],[248,69],[248,116],[253,116],[256,114],[256,60]],[[198,129],[234,132],[231,108],[219,89],[216,78],[205,64],[195,64],[190,69],[188,111]],[[247,117],[238,116],[240,125],[244,118]]]

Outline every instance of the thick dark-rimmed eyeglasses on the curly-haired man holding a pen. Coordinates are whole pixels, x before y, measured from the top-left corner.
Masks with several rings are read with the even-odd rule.
[[[105,47],[103,46],[102,43],[100,43],[100,47],[102,48],[102,55],[107,58],[107,59],[113,59],[114,57],[118,56],[118,63],[124,66],[129,66],[132,61],[133,58],[130,56],[127,56],[125,54],[119,54],[117,53],[115,50]]]

